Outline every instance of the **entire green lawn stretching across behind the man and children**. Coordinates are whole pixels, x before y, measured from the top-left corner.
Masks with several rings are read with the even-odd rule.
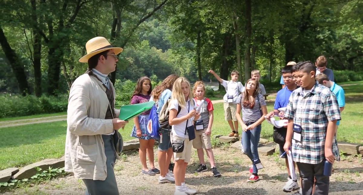
[[[343,86],[346,92],[346,106],[339,125],[338,141],[363,144],[363,82],[346,84],[352,83],[358,85]],[[214,104],[214,108],[212,136],[227,135],[231,129],[227,121],[224,121],[223,103]],[[273,102],[268,102],[267,109],[268,111],[273,109]],[[58,113],[58,115],[62,114],[65,113]],[[120,130],[125,141],[132,139],[130,137],[132,126],[133,121],[130,121],[124,130]],[[239,131],[241,132],[241,127]],[[272,126],[266,121],[263,122],[261,137],[272,139],[272,133]],[[4,127],[0,128],[0,134],[0,170],[21,167],[45,158],[59,158],[64,155],[66,121]]]

